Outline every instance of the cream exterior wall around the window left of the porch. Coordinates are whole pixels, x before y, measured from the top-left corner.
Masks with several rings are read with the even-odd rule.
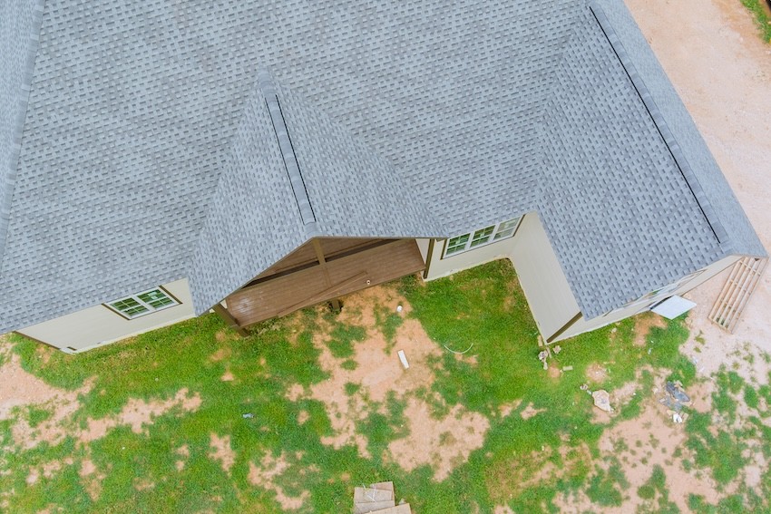
[[[95,305],[17,332],[51,344],[64,352],[75,353],[194,316],[187,278],[162,286],[180,301],[180,305],[132,320],[125,319],[104,305]],[[132,293],[126,292],[127,295]]]

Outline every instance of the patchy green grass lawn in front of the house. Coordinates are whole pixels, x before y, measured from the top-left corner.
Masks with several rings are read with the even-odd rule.
[[[363,457],[353,445],[335,449],[322,443],[322,438],[333,434],[324,403],[288,399],[293,385],[309,387],[327,379],[313,341],[320,325],[332,326],[327,345],[340,359],[348,359],[366,338],[365,328],[310,309],[259,325],[253,335],[239,338],[217,316],[205,315],[81,355],[62,354],[12,336],[7,345],[13,346],[24,369],[46,383],[73,391],[94,381],[79,398],[80,408],[67,418],[73,432],[89,419],[121,412],[130,399],[169,399],[187,388],[201,402],[193,412],[177,408],[161,414],[147,425],[146,433],[120,425],[95,441],[83,443],[71,435],[55,445],[42,443],[31,449],[15,442],[12,427],[20,418],[40,426],[51,416],[51,406],[16,410],[15,419],[0,422],[0,491],[5,491],[0,501],[5,501],[5,510],[277,512],[281,508],[276,490],[249,480],[249,470],[266,456],[284,456],[286,469],[274,482],[286,495],[304,499],[302,512],[346,512],[354,486],[379,480],[394,480],[397,497],[421,514],[492,512],[503,504],[516,512],[554,512],[558,494],[575,491],[585,493],[598,508],[619,506],[629,486],[620,463],[600,466],[592,459],[599,459],[598,441],[604,431],[639,414],[652,379],[643,373],[643,387],[635,400],[610,423],[600,424],[593,422],[591,398],[580,389],[586,382],[586,368],[602,364],[607,379],[594,388],[609,391],[634,380],[643,367],[666,368],[686,386],[695,381],[693,364],[678,351],[688,336],[681,319],[664,329],[654,328],[647,346],[633,344],[633,320],[565,342],[558,363],[552,365],[571,365],[573,371],[550,378],[536,358],[537,331],[522,290],[512,267],[503,262],[425,286],[407,277],[393,287],[412,305],[411,316],[443,349],[444,356],[432,361],[436,378],[431,390],[421,392],[434,398],[435,414],[460,405],[490,421],[483,446],[467,461],[458,462],[445,480],[433,480],[430,466],[406,472],[382,458],[389,442],[406,435],[405,398],[389,395],[384,411],[373,411],[356,425],[368,441],[371,458]],[[403,320],[386,309],[377,312],[376,325],[392,345]],[[459,349],[473,344],[475,363],[445,352],[444,344]],[[218,353],[220,358],[212,359]],[[346,360],[344,365],[355,367],[356,363]],[[226,372],[232,374],[232,381],[220,380]],[[771,431],[762,422],[769,413],[764,410],[768,388],[726,377],[727,399],[716,403],[729,413],[737,396],[750,402],[754,398],[759,410],[753,433],[771,441]],[[358,388],[356,383],[346,383],[345,393],[356,394]],[[511,413],[501,414],[503,406],[519,401]],[[529,404],[544,411],[523,420],[520,412]],[[253,417],[244,418],[244,413]],[[299,422],[301,416],[307,420]],[[704,420],[695,421],[688,429],[688,444],[699,456],[694,466],[714,472],[718,482],[727,483],[733,478],[731,470],[742,463],[742,434],[716,436]],[[229,471],[210,456],[212,433],[229,437],[235,456]],[[181,447],[186,447],[184,457],[178,451]],[[722,461],[723,455],[734,460]],[[52,461],[71,463],[28,483],[32,470]],[[181,469],[179,461],[184,461]],[[95,470],[83,478],[86,463]],[[527,480],[545,466],[562,472],[553,480]],[[663,471],[653,471],[649,483],[640,488],[641,497],[662,495]],[[88,489],[93,477],[102,477],[95,498]],[[767,472],[764,477],[763,488],[753,492],[756,499],[739,490],[737,494],[745,496],[730,501],[767,505],[771,480]],[[716,512],[734,505],[709,506],[698,496],[692,503]]]

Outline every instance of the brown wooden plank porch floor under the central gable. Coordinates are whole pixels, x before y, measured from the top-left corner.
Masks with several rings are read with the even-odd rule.
[[[293,254],[315,251],[319,258],[314,263],[288,266],[282,261],[271,268],[272,275],[262,274],[228,296],[229,315],[241,327],[254,325],[425,268],[414,239],[370,240],[356,246],[348,243],[346,251],[328,257],[321,254],[322,244],[307,243]],[[334,246],[327,240],[325,247]],[[288,259],[298,262],[297,257]]]

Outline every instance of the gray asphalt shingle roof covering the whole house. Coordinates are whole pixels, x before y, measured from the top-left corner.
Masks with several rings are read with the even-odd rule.
[[[309,236],[449,237],[532,210],[587,315],[763,254],[623,3],[592,3],[616,49],[588,5],[47,0],[39,34],[33,9],[3,16],[0,330],[181,276],[202,312]]]

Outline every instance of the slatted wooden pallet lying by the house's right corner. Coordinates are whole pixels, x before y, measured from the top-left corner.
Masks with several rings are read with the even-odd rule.
[[[734,333],[767,264],[767,258],[744,257],[734,265],[726,285],[709,312],[708,317],[713,323]]]

